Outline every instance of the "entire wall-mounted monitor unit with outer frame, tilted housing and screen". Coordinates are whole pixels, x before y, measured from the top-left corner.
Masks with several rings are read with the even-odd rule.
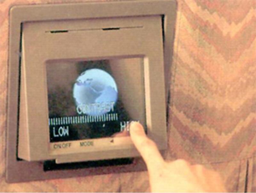
[[[136,163],[43,170],[44,160],[138,156],[127,136],[130,121],[140,121],[159,149],[166,148],[164,73],[172,58],[175,9],[175,1],[163,0],[10,10],[9,182],[142,169]]]

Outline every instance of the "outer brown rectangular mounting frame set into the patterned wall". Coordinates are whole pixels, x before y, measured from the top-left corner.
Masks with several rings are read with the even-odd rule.
[[[20,105],[20,65],[21,65],[21,34],[22,24],[33,21],[119,18],[137,16],[162,17],[164,42],[164,77],[165,98],[167,101],[170,65],[172,63],[172,48],[176,20],[175,0],[141,0],[141,1],[111,1],[72,4],[23,5],[10,9],[9,32],[9,74],[8,74],[8,111],[7,111],[7,151],[6,151],[6,181],[9,183],[44,180],[52,178],[68,178],[95,174],[121,173],[145,170],[141,158],[135,158],[130,165],[82,168],[76,170],[45,171],[45,163],[41,161],[23,161],[17,157],[17,139],[19,127]],[[47,170],[47,169],[46,169]]]

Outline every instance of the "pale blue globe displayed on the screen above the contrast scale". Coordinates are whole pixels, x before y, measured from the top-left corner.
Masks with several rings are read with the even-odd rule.
[[[98,68],[81,73],[73,87],[78,114],[99,116],[114,111],[117,95],[114,78]]]

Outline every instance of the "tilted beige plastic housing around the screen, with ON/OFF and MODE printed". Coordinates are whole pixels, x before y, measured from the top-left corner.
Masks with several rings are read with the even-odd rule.
[[[166,107],[161,19],[161,16],[141,16],[24,23],[18,157],[65,163],[139,155],[129,136],[50,143],[46,63],[58,60],[142,58],[147,132],[158,148],[164,150]],[[123,70],[127,70],[125,65]],[[81,142],[93,146],[84,147]]]

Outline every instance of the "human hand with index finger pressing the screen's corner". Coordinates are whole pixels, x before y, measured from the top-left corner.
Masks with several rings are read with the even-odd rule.
[[[147,137],[142,125],[132,122],[132,142],[144,159],[152,192],[226,192],[220,175],[202,165],[187,161],[164,161],[156,143]]]

